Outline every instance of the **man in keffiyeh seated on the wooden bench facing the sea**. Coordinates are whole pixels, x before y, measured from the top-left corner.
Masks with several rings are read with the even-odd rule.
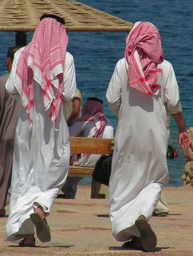
[[[103,101],[98,97],[87,99],[82,108],[83,115],[69,127],[70,136],[89,138],[113,138],[113,126],[103,113]],[[71,165],[94,167],[101,155],[74,154],[71,157]],[[61,191],[68,198],[75,198],[78,182],[81,177],[68,177]],[[62,197],[62,196],[61,196]]]

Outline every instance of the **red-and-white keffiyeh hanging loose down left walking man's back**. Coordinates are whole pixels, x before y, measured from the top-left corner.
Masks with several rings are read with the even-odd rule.
[[[29,130],[33,123],[33,79],[42,87],[45,111],[56,126],[67,45],[64,25],[54,18],[44,18],[36,27],[32,41],[20,54],[14,85],[29,116]]]

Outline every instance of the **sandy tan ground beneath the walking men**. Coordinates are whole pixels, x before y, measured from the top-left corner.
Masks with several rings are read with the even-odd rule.
[[[76,199],[56,199],[47,217],[51,242],[36,237],[36,247],[18,247],[5,235],[7,218],[0,219],[0,255],[3,256],[189,256],[193,255],[193,187],[164,189],[170,212],[152,217],[150,224],[157,235],[154,252],[126,250],[112,234],[108,219],[108,199],[90,199],[90,186],[80,186]],[[6,208],[7,212],[9,207]]]

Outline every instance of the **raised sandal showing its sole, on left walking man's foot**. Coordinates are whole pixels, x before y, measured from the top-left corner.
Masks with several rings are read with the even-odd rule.
[[[50,228],[47,225],[46,218],[42,218],[42,216],[38,212],[30,214],[30,218],[36,226],[36,234],[40,241],[43,243],[50,242],[51,234]]]

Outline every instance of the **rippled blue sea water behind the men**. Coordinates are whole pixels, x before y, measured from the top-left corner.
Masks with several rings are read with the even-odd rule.
[[[180,90],[186,128],[193,126],[192,103],[192,43],[193,5],[192,0],[80,0],[79,2],[118,16],[130,22],[148,21],[157,26],[165,59],[174,67]],[[28,42],[32,33],[28,34]],[[116,129],[117,118],[108,108],[106,89],[116,62],[124,57],[125,35],[123,32],[68,32],[68,51],[73,54],[77,85],[83,96],[83,103],[91,95],[100,96],[104,101],[104,112]],[[0,33],[0,75],[6,73],[7,49],[15,44],[15,33]],[[129,120],[128,120],[129,121]],[[139,120],[140,125],[140,120]],[[178,129],[171,117],[169,145],[178,149],[178,157],[168,159],[170,187],[183,185],[183,150],[178,145]],[[148,145],[147,145],[148,146]],[[84,178],[81,183],[90,184]]]

